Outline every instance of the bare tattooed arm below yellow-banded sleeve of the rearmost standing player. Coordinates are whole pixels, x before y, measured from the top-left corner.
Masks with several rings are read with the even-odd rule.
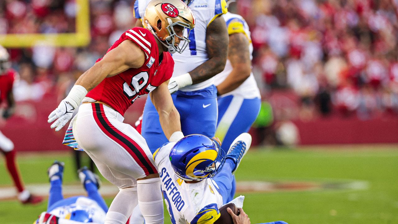
[[[252,72],[250,61],[249,40],[244,33],[229,36],[228,59],[232,65],[231,73],[217,86],[219,95],[238,88]]]

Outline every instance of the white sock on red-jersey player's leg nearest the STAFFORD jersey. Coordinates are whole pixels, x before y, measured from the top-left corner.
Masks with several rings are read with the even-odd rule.
[[[160,178],[137,181],[138,205],[145,224],[163,224],[163,199]]]

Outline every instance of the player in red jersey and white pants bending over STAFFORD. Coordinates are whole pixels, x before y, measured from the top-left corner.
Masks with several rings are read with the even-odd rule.
[[[125,224],[139,204],[146,224],[163,223],[160,178],[145,139],[123,114],[133,102],[150,94],[170,141],[183,137],[179,113],[168,90],[174,61],[189,40],[183,31],[195,26],[191,10],[180,0],[152,0],[143,19],[144,28],[121,35],[93,67],[88,69],[49,116],[51,128],[69,125],[79,147],[92,158],[101,174],[119,188],[105,224]],[[183,40],[183,43],[179,44]],[[72,131],[72,133],[70,133]]]

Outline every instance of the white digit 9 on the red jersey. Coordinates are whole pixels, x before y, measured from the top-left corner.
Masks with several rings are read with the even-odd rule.
[[[133,76],[131,79],[131,85],[128,83],[123,83],[123,93],[131,100],[133,103],[137,98],[140,97],[140,91],[145,88],[148,83],[149,75],[147,72],[141,72]],[[133,87],[133,89],[131,88]]]

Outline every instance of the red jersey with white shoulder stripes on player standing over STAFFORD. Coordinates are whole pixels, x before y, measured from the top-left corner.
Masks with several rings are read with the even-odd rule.
[[[168,52],[163,52],[163,59],[159,63],[158,44],[154,35],[144,28],[129,29],[107,52],[125,40],[133,41],[144,51],[145,63],[138,69],[128,69],[113,77],[105,78],[86,95],[111,106],[121,115],[124,115],[137,98],[148,94],[170,79],[174,69],[173,58]]]

